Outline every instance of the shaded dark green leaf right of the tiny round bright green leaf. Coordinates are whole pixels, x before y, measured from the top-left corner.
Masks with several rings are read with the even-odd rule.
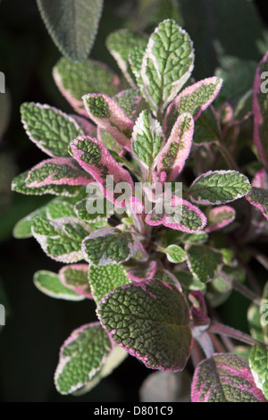
[[[222,253],[206,245],[186,248],[188,268],[200,281],[212,281],[222,268]]]

